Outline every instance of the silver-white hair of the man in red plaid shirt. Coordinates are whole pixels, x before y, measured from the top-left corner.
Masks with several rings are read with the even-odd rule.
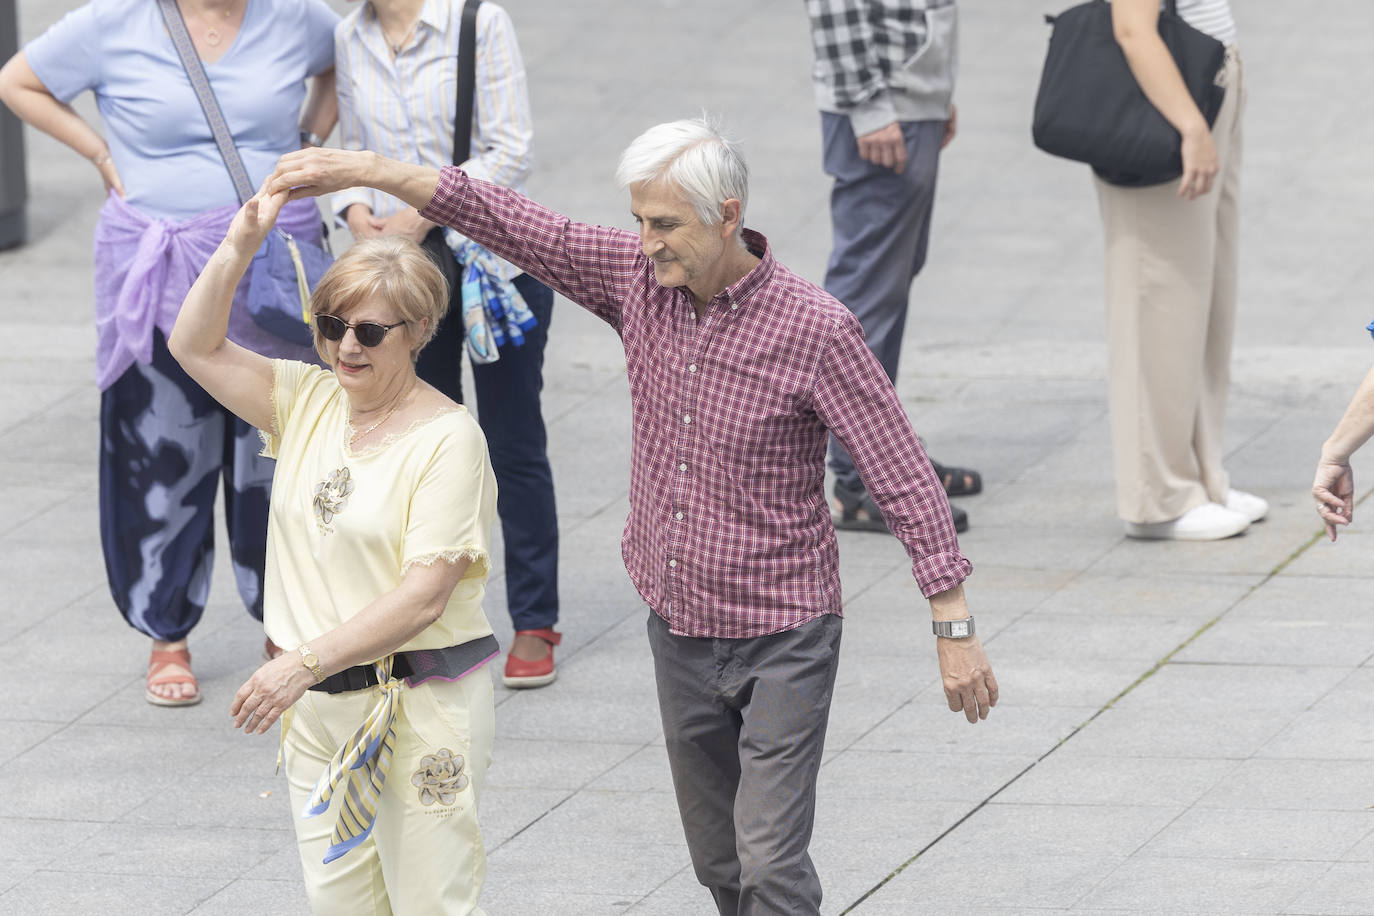
[[[628,188],[660,180],[677,185],[706,225],[719,225],[720,205],[735,198],[743,225],[749,166],[739,144],[725,139],[706,118],[649,128],[621,154],[616,184]]]

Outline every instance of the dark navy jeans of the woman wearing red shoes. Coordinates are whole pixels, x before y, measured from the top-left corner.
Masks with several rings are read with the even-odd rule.
[[[463,306],[458,262],[438,229],[426,236],[423,247],[448,279],[451,298],[448,314],[434,339],[420,350],[415,371],[462,404]],[[473,382],[477,419],[496,472],[496,514],[506,541],[506,603],[517,630],[536,630],[558,622],[558,508],[540,409],[554,291],[528,273],[515,277],[515,288],[539,325],[525,334],[522,346],[503,346],[496,363],[474,365]]]

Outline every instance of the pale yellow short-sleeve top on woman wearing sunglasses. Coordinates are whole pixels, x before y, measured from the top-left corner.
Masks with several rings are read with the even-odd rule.
[[[397,588],[414,563],[471,564],[438,621],[398,651],[492,633],[482,612],[496,514],[486,438],[464,408],[440,412],[381,445],[348,445],[348,397],[334,374],[273,360],[276,459],[267,527],[264,625],[294,648]]]

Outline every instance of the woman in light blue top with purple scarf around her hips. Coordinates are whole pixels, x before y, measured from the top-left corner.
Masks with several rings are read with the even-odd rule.
[[[302,139],[333,130],[338,16],[323,0],[176,7],[254,183]],[[67,104],[87,89],[103,137]],[[196,703],[185,640],[209,592],[214,490],[223,475],[239,593],[261,619],[272,463],[254,430],[180,369],[166,335],[238,196],[155,0],[73,10],[0,70],[0,100],[88,158],[109,191],[95,253],[106,571],[125,619],[153,639],[147,700]],[[319,240],[313,205],[282,224]],[[254,325],[242,302],[234,312],[239,343],[309,358]]]

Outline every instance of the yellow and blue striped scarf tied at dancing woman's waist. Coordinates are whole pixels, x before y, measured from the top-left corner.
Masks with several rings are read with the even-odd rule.
[[[382,698],[353,736],[339,746],[334,759],[320,773],[305,810],[301,812],[301,817],[323,814],[328,810],[339,784],[348,779],[348,792],[339,805],[334,835],[324,853],[326,865],[365,840],[376,821],[382,786],[386,784],[386,772],[392,766],[392,754],[396,750],[396,713],[403,684],[392,676],[393,659],[393,655],[387,655],[376,663]]]

